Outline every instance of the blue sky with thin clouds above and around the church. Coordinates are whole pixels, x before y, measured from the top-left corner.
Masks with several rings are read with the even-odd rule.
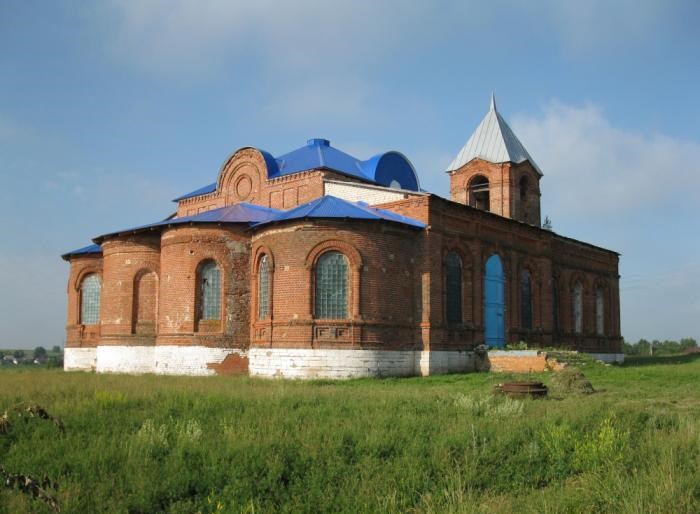
[[[395,149],[422,185],[495,91],[554,230],[619,251],[627,340],[700,339],[700,3],[0,5],[0,347],[61,344],[68,265],[252,145]]]

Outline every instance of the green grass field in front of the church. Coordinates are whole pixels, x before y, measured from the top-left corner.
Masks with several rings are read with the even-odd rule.
[[[583,368],[598,392],[512,400],[504,375],[289,382],[0,372],[7,470],[66,513],[700,512],[700,360]],[[551,375],[538,375],[545,381]],[[32,401],[58,416],[13,418]],[[0,485],[0,513],[49,512]]]

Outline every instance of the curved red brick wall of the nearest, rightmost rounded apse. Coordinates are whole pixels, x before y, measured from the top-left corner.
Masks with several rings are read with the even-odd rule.
[[[254,322],[258,346],[414,349],[420,346],[416,314],[414,247],[420,231],[390,223],[309,221],[261,229],[253,236],[258,262],[273,263],[271,316]],[[323,252],[349,260],[348,318],[315,320],[313,266]],[[254,277],[254,284],[257,280]],[[255,295],[254,295],[255,296]],[[256,302],[256,299],[253,300]],[[257,309],[253,309],[257,312]]]

